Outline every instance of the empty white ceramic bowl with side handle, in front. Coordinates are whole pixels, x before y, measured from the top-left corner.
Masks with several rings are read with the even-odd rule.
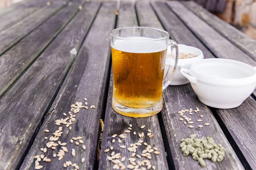
[[[256,67],[231,59],[203,59],[180,73],[198,99],[214,108],[236,108],[256,87]]]

